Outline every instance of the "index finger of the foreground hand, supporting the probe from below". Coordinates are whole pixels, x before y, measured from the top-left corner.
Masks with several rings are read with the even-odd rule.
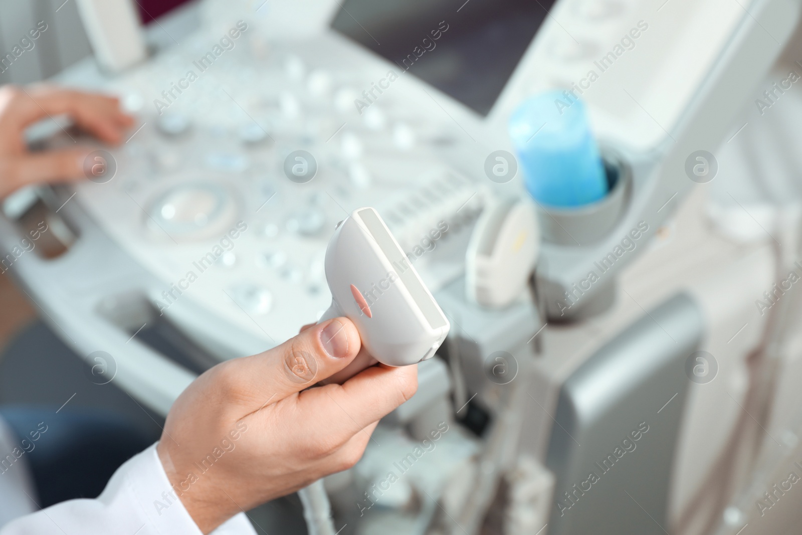
[[[334,426],[347,436],[361,432],[382,419],[415,394],[418,367],[389,367],[383,364],[348,379],[342,385],[312,388],[298,396],[300,412],[315,428]]]

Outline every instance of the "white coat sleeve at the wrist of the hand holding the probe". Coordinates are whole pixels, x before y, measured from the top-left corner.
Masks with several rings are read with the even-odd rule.
[[[133,456],[114,472],[95,500],[70,500],[19,517],[0,535],[201,535],[156,454],[156,444]],[[212,532],[255,535],[245,513]]]

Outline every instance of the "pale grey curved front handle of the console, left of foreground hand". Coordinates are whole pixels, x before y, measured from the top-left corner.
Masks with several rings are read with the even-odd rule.
[[[14,275],[18,286],[43,312],[43,320],[75,353],[91,363],[91,353],[107,352],[115,365],[111,379],[115,385],[158,414],[167,415],[172,402],[196,375],[137,341],[104,318],[100,310],[103,299],[143,293],[157,287],[158,281],[111,241],[78,201],[71,201],[61,212],[79,229],[75,243],[61,256],[46,259],[35,252],[34,242],[34,249],[15,257],[5,273]],[[11,251],[23,238],[30,241],[19,233],[14,221],[0,215],[0,249]]]

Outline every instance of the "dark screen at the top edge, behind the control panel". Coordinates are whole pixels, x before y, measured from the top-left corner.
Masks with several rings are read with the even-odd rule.
[[[344,0],[332,28],[487,116],[554,0]]]

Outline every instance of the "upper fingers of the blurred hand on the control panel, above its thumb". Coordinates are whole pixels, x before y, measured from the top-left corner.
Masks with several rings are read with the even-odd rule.
[[[50,86],[3,87],[0,103],[6,109],[4,126],[22,132],[45,117],[67,114],[75,123],[107,143],[119,143],[133,118],[119,107],[119,99]]]

